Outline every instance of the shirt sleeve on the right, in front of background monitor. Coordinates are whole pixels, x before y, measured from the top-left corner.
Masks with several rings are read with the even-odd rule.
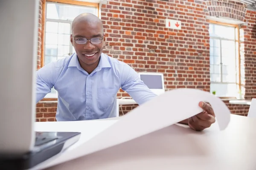
[[[144,84],[139,74],[128,64],[125,64],[123,67],[121,88],[139,105],[157,96]]]

